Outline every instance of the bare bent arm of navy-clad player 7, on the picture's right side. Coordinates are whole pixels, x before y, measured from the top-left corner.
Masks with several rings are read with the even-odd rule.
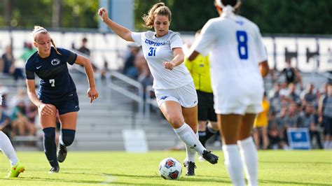
[[[98,98],[98,92],[90,60],[81,55],[77,55],[75,63],[84,66],[85,73],[86,76],[88,77],[88,83],[89,83],[88,97],[90,98],[90,103],[92,103],[93,100]]]

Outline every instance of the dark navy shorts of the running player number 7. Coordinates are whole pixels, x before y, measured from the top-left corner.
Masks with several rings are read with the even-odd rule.
[[[80,110],[78,96],[76,92],[69,94],[68,99],[63,101],[49,100],[49,99],[41,99],[41,102],[46,104],[52,104],[59,111],[59,115],[63,115],[65,113],[77,112]]]

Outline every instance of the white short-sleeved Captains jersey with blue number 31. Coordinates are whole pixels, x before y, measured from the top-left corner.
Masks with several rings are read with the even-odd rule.
[[[183,63],[172,71],[165,69],[162,65],[163,62],[170,62],[174,58],[172,48],[182,48],[184,45],[179,33],[169,31],[167,35],[157,38],[153,31],[132,32],[132,38],[137,45],[142,46],[144,57],[153,76],[154,89],[174,89],[193,82]]]

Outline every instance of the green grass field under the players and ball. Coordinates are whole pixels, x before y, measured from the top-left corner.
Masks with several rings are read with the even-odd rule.
[[[186,177],[185,169],[178,180],[164,180],[158,174],[159,162],[165,157],[183,161],[184,151],[71,152],[60,173],[48,174],[50,166],[43,152],[18,152],[26,171],[19,178],[4,179],[9,163],[0,155],[0,185],[230,185],[223,165],[196,163],[195,177]],[[332,185],[332,151],[259,151],[259,185]]]

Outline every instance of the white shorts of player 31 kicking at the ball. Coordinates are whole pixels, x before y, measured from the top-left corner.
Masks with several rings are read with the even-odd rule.
[[[159,107],[165,101],[177,101],[184,108],[191,108],[198,104],[196,88],[193,82],[176,89],[155,90],[155,97]]]

